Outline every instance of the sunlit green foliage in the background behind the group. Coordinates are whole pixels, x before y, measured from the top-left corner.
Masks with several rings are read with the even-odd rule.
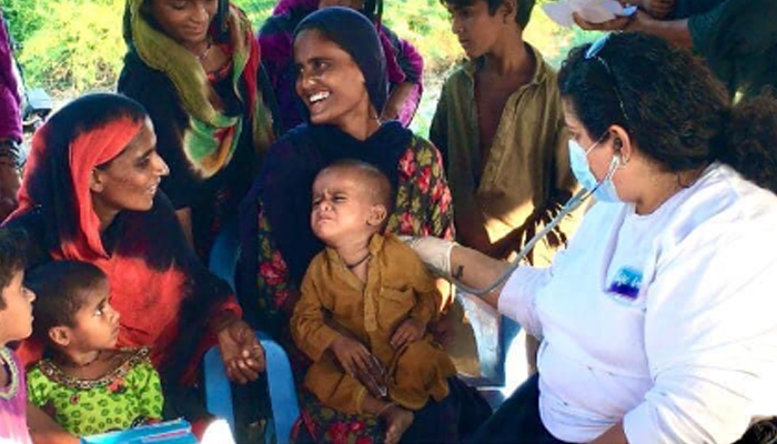
[[[121,37],[125,0],[2,0],[2,12],[19,43],[18,57],[31,87],[56,97],[74,97],[91,90],[112,90],[125,47]],[[548,0],[539,0],[543,3]],[[233,0],[254,29],[272,13],[276,0]],[[414,129],[425,134],[440,87],[463,60],[451,32],[447,11],[438,0],[386,0],[384,23],[411,41],[424,56],[424,100]],[[552,64],[558,65],[573,44],[595,36],[559,29],[535,8],[525,31]]]

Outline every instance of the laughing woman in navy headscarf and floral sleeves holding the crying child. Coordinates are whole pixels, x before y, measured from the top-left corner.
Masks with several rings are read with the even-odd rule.
[[[382,122],[387,100],[385,58],[373,23],[346,8],[325,8],[295,31],[296,90],[310,122],[286,133],[265,157],[262,173],[243,203],[240,291],[258,324],[289,337],[289,320],[301,280],[323,250],[310,224],[311,189],[327,165],[355,159],[377,168],[394,190],[386,231],[453,238],[451,192],[440,152],[398,121]],[[285,345],[294,350],[289,341]],[[293,354],[292,354],[293,355]],[[297,362],[304,373],[305,364]],[[490,408],[460,380],[447,380],[450,395],[420,410],[407,442],[457,442]],[[302,401],[301,441],[382,442],[377,415],[353,415]],[[369,441],[372,440],[372,441]]]

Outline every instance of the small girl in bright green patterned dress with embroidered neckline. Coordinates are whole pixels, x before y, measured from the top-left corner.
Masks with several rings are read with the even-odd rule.
[[[160,421],[162,389],[149,349],[115,349],[119,313],[105,274],[54,261],[33,270],[28,284],[40,295],[34,334],[48,352],[27,374],[30,402],[77,436]]]

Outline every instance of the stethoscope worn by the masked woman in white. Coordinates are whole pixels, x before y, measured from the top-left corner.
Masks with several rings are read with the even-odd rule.
[[[518,268],[518,264],[521,261],[523,261],[528,253],[532,251],[534,245],[537,244],[543,238],[547,235],[553,229],[558,225],[564,218],[566,218],[571,212],[575,211],[578,206],[583,204],[588,198],[594,195],[596,190],[598,190],[599,186],[602,186],[603,183],[605,183],[608,180],[613,179],[613,174],[615,174],[615,171],[618,169],[618,165],[620,164],[620,157],[619,155],[614,155],[612,162],[609,163],[609,169],[607,170],[607,173],[604,175],[604,178],[596,183],[596,186],[594,186],[591,190],[582,189],[575,195],[573,195],[561,209],[558,214],[547,224],[543,230],[541,230],[537,234],[534,235],[526,244],[524,245],[523,249],[518,252],[518,255],[508,263],[508,266],[488,286],[484,289],[475,289],[472,286],[468,286],[464,284],[463,282],[458,281],[456,276],[442,272],[440,273],[442,278],[445,280],[450,281],[456,287],[465,293],[468,294],[474,294],[476,296],[483,296],[484,294],[488,294],[496,290],[500,285],[502,285],[507,279],[509,278],[511,274]]]

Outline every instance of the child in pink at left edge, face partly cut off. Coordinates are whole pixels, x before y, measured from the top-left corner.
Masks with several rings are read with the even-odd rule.
[[[0,229],[0,443],[32,443],[27,432],[27,387],[16,353],[7,345],[32,332],[36,295],[24,280],[23,236]]]

